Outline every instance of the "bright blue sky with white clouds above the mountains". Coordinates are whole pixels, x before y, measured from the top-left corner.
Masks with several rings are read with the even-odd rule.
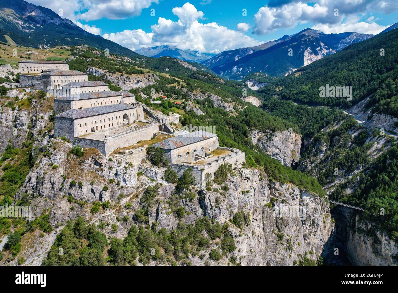
[[[169,44],[203,53],[219,53],[258,45],[307,27],[325,33],[356,31],[376,34],[398,22],[397,0],[31,2],[57,13],[62,9],[62,17],[133,50]]]

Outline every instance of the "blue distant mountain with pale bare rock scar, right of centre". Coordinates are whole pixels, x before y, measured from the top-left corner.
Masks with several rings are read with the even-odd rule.
[[[257,47],[224,51],[202,64],[229,79],[243,79],[253,72],[288,75],[299,67],[373,36],[351,32],[326,34],[306,28]]]

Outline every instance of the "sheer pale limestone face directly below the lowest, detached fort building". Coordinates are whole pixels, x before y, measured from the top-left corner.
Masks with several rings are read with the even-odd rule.
[[[240,176],[225,184],[225,195],[201,190],[201,206],[206,216],[221,223],[239,211],[250,214],[243,232],[233,224],[229,228],[242,265],[292,265],[299,254],[316,260],[322,253],[334,229],[323,199],[290,184],[269,182],[254,169],[240,169]]]

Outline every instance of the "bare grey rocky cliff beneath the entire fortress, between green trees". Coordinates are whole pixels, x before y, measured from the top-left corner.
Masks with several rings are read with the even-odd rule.
[[[315,263],[334,229],[324,199],[294,185],[269,181],[258,169],[236,166],[223,183],[228,188],[215,184],[209,191],[195,186],[195,199],[178,199],[177,205],[186,211],[181,220],[168,205],[174,195],[174,185],[162,180],[164,168],[145,161],[136,165],[119,159],[108,161],[94,149],[85,149],[84,156],[78,158],[70,154],[71,144],[48,136],[35,146],[40,147],[44,155],[37,159],[16,199],[29,194],[35,217],[49,210],[49,221],[55,230],[45,235],[36,230],[23,236],[19,256],[25,258],[25,264],[41,264],[55,234],[66,220],[79,215],[91,223],[108,223],[103,230],[107,236],[124,238],[132,222],[119,219],[131,217],[140,207],[142,193],[156,183],[161,183],[161,187],[148,218],[149,224],[157,221],[158,228],[171,231],[179,221],[194,223],[202,216],[224,224],[237,212],[248,214],[248,223],[243,227],[232,222],[228,227],[236,245],[232,255],[242,265]],[[93,214],[90,210],[98,201],[109,201],[109,207]],[[127,203],[131,203],[131,208],[126,208]],[[117,232],[111,229],[111,224],[117,225]],[[207,250],[215,247],[217,244],[211,244]],[[9,264],[18,261],[10,260],[8,255],[4,260]],[[216,262],[208,256],[190,256],[189,261],[194,265],[203,265],[206,261],[225,265],[228,258]]]

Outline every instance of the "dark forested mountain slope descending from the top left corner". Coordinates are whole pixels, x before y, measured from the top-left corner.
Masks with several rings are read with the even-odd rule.
[[[140,57],[130,49],[79,28],[51,9],[23,0],[0,1],[0,41],[7,42],[4,35],[11,37],[17,45],[26,47],[86,44],[99,49],[107,48],[127,57]]]

